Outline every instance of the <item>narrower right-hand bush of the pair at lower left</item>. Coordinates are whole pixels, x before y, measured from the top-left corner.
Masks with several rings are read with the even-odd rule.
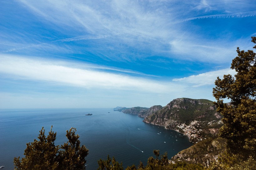
[[[66,170],[82,170],[85,167],[85,157],[88,155],[89,150],[82,145],[80,147],[79,135],[75,135],[76,128],[71,128],[66,131],[67,143],[61,145],[58,155],[59,169]]]

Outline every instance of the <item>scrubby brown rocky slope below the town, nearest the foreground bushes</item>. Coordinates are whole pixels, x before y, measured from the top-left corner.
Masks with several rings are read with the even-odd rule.
[[[222,138],[208,138],[180,151],[171,158],[172,162],[185,161],[188,163],[200,163],[209,167],[212,161],[217,161],[220,153],[226,147],[226,140]]]

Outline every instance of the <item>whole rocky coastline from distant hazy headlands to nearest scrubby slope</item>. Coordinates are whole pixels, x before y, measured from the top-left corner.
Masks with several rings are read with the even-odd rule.
[[[186,161],[209,166],[217,160],[225,148],[225,140],[218,138],[219,128],[223,125],[216,106],[206,99],[177,98],[162,107],[119,108],[128,114],[144,117],[143,122],[163,126],[188,136],[194,145],[172,157],[171,161]]]

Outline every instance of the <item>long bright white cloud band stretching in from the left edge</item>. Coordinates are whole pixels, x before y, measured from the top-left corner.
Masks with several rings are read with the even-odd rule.
[[[66,64],[70,65],[70,64]],[[60,65],[47,60],[1,55],[0,72],[16,78],[59,83],[85,88],[127,89],[148,92],[169,91],[169,85],[145,78]]]

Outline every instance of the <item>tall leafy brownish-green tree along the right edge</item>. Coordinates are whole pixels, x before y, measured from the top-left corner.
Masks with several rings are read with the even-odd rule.
[[[252,37],[256,44],[256,37]],[[256,49],[256,45],[253,47]],[[224,125],[219,136],[227,139],[227,151],[239,154],[244,160],[255,156],[256,149],[256,54],[253,50],[240,50],[232,60],[231,69],[235,69],[234,77],[230,74],[215,80],[213,96],[217,100],[217,111],[224,118]],[[223,99],[230,103],[223,103]]]

